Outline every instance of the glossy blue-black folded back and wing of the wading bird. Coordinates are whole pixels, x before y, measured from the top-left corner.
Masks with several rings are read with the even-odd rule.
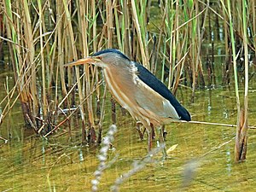
[[[168,90],[165,84],[163,84],[159,79],[157,79],[154,74],[150,73],[147,68],[143,67],[143,65],[134,62],[138,71],[138,78],[141,79],[145,84],[147,84],[151,89],[158,92],[160,96],[166,98],[176,109],[178,116],[181,120],[191,120],[190,114],[187,109],[183,108],[183,106],[177,101],[175,96],[172,95],[171,91]]]

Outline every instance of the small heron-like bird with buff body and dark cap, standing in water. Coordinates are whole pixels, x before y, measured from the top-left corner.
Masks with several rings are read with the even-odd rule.
[[[151,125],[161,127],[170,124],[173,119],[191,120],[188,110],[177,101],[166,84],[142,64],[131,61],[119,49],[102,49],[67,63],[65,67],[82,64],[102,67],[105,83],[113,98],[148,131],[148,151],[152,147]]]

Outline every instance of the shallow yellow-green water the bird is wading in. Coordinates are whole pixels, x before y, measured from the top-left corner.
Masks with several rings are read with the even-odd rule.
[[[2,76],[3,77],[3,76]],[[3,78],[2,78],[3,79]],[[3,81],[1,81],[3,82]],[[1,87],[3,84],[1,84]],[[255,87],[253,82],[252,87]],[[182,93],[182,95],[181,95]],[[189,101],[189,92],[179,90],[177,97]],[[2,96],[1,96],[2,97]],[[186,99],[187,98],[187,99]],[[255,125],[253,101],[255,91],[250,89],[249,124]],[[186,107],[194,120],[236,124],[236,101],[233,88],[218,87],[212,90],[198,90],[195,103]],[[189,102],[186,102],[189,103]],[[129,115],[118,110],[118,131],[113,149],[108,151],[107,162],[115,160],[102,173],[99,191],[109,191],[115,180],[129,172],[134,162],[140,162],[147,154],[147,141],[140,141],[135,123]],[[104,122],[104,131],[110,122]],[[81,146],[77,137],[79,128],[73,128],[70,139],[65,130],[44,139],[31,130],[23,128],[19,104],[3,122],[0,135],[9,138],[8,143],[0,141],[0,190],[2,191],[89,191],[91,180],[98,166],[100,148]],[[161,160],[156,154],[151,163],[129,177],[120,185],[120,191],[253,191],[256,132],[249,132],[247,162],[234,164],[235,128],[214,125],[172,124],[168,132],[166,147],[177,144]],[[104,134],[105,134],[104,132]],[[103,135],[104,135],[103,134]],[[154,142],[156,147],[156,140]]]

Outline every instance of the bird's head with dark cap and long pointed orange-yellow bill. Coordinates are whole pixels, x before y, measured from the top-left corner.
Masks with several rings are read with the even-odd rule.
[[[82,64],[94,64],[98,67],[118,67],[130,62],[130,59],[118,49],[104,49],[84,59],[67,63],[64,67],[78,66]]]

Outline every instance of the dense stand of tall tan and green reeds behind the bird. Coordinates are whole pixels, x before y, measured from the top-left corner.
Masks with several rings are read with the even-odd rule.
[[[116,117],[113,99],[112,110],[105,105],[100,69],[63,65],[106,48],[141,62],[174,94],[179,86],[191,90],[191,102],[195,90],[235,82],[238,117],[238,79],[245,77],[247,117],[248,75],[255,70],[248,65],[256,51],[254,0],[3,0],[0,24],[0,49],[3,41],[9,47],[9,55],[0,57],[11,61],[15,77],[0,101],[0,125],[19,100],[26,125],[38,134],[48,137],[65,125],[71,137],[79,125],[82,143],[101,143],[104,111],[113,112],[113,123]],[[223,66],[214,63],[218,43],[224,44]],[[236,64],[240,58],[244,62]],[[216,81],[216,67],[222,68],[222,82]]]

